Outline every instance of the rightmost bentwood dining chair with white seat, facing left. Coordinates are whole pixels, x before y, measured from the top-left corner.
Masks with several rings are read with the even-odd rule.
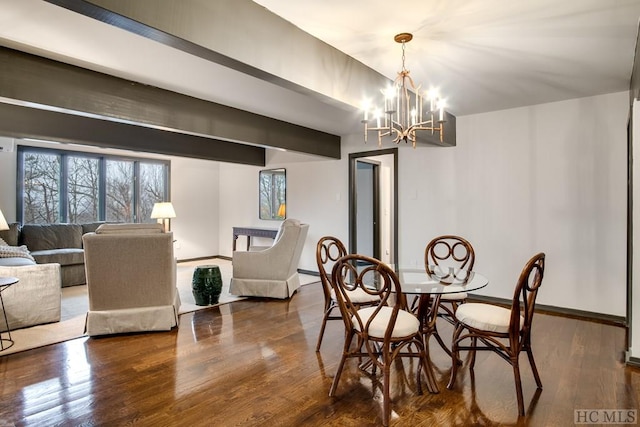
[[[491,350],[513,367],[518,414],[524,415],[519,363],[521,352],[527,353],[536,385],[542,389],[542,382],[531,349],[531,324],[536,297],[542,285],[544,266],[544,253],[534,255],[527,262],[520,273],[511,308],[485,303],[467,303],[458,307],[456,311],[457,326],[451,346],[453,368],[447,388],[452,389],[455,385],[461,350],[471,352],[470,369],[474,367],[477,350]],[[471,341],[470,345],[461,345],[462,341],[466,339]]]

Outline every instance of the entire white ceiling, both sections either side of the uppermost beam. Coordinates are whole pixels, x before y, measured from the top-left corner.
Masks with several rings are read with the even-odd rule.
[[[401,66],[393,36],[413,33],[407,68],[457,116],[627,90],[640,17],[640,0],[256,3],[389,78]],[[355,106],[345,114],[41,0],[0,0],[0,45],[326,132],[359,129]]]

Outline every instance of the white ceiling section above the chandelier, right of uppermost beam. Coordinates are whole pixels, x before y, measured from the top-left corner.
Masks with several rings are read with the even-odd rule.
[[[401,46],[455,115],[629,88],[639,0],[254,0],[394,78]]]

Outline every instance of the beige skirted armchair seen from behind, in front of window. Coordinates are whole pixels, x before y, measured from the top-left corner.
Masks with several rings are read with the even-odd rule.
[[[87,335],[166,331],[178,325],[173,233],[161,224],[104,224],[83,236]]]

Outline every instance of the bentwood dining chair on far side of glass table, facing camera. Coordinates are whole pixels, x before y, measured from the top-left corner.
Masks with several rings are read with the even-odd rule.
[[[435,267],[440,269],[451,267],[472,271],[475,261],[476,254],[473,246],[466,239],[459,236],[444,235],[436,237],[427,244],[424,250],[424,265],[428,273],[433,273]],[[437,307],[438,318],[455,325],[456,309],[460,304],[467,301],[467,297],[466,292],[443,294]],[[434,325],[433,335],[440,347],[451,356],[449,347],[444,343],[438,332],[437,324]]]

